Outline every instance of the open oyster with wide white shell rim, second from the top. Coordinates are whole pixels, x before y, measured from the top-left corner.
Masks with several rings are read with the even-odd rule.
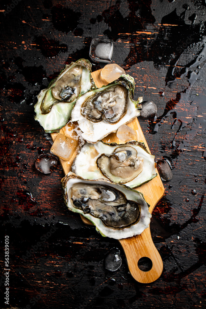
[[[140,101],[134,101],[134,79],[121,75],[116,81],[82,95],[76,102],[72,121],[78,121],[82,137],[95,143],[120,125],[139,116]]]

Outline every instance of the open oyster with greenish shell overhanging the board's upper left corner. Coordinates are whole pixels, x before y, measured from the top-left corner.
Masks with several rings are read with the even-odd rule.
[[[47,89],[40,91],[35,104],[35,120],[46,132],[59,132],[70,119],[73,105],[80,95],[95,87],[91,63],[79,59],[66,65]]]

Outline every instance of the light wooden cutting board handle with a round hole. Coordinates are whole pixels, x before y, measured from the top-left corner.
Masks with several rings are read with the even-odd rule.
[[[135,280],[141,283],[151,283],[161,276],[162,258],[152,241],[149,227],[141,235],[120,239],[119,242],[127,258],[129,272]],[[142,257],[147,257],[152,261],[152,268],[149,271],[144,272],[139,269],[138,261]]]

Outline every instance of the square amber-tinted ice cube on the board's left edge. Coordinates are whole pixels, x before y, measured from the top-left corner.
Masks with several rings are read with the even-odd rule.
[[[50,149],[50,152],[57,155],[62,160],[69,160],[71,154],[74,152],[78,145],[78,141],[59,133]]]

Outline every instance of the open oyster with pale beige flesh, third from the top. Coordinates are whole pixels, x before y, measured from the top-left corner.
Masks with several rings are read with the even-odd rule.
[[[136,141],[120,145],[86,143],[75,158],[72,171],[83,178],[105,178],[130,188],[157,176],[154,156],[143,143]]]

